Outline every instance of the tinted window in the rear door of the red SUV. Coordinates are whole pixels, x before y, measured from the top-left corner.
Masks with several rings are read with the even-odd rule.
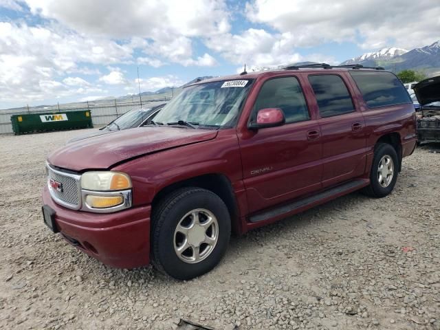
[[[336,74],[309,76],[322,118],[355,111],[347,86]]]

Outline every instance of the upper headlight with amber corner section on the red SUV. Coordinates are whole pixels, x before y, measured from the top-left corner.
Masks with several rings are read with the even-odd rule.
[[[81,188],[95,191],[130,189],[131,179],[121,172],[86,172],[81,175]]]

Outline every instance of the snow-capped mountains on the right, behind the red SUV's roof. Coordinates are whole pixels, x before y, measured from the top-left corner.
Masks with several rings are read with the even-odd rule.
[[[341,63],[341,65],[361,64],[365,67],[384,67],[400,72],[413,69],[425,72],[428,76],[440,72],[440,41],[421,48],[384,48],[378,52],[362,54]]]

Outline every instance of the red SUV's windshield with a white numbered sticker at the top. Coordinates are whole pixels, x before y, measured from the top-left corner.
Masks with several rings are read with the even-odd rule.
[[[171,124],[188,122],[197,127],[232,126],[238,118],[252,80],[222,80],[186,87],[173,98],[154,121]]]

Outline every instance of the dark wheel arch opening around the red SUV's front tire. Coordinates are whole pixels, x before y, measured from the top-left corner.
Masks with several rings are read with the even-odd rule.
[[[159,203],[159,201],[166,197],[166,195],[168,195],[170,192],[185,187],[203,188],[206,190],[210,190],[214,192],[214,194],[218,195],[228,208],[231,219],[232,232],[234,232],[234,234],[239,234],[239,206],[236,201],[230,179],[228,179],[226,175],[223,175],[221,173],[210,173],[199,175],[196,177],[190,177],[188,179],[177,181],[173,184],[165,186],[164,188],[159,190],[153,197],[153,201],[151,202],[152,209],[154,209],[155,206],[157,206],[157,203]]]

